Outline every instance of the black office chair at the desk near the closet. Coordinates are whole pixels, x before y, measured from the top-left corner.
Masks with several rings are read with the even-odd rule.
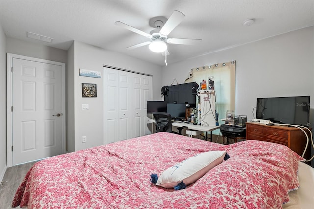
[[[179,132],[172,131],[171,115],[166,112],[153,112],[156,124],[156,132],[168,132],[181,135],[182,128],[178,127]]]

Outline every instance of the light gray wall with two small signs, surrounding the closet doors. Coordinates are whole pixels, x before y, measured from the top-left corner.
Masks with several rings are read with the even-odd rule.
[[[156,100],[160,100],[162,69],[160,66],[145,61],[78,41],[74,42],[73,48],[74,66],[70,70],[74,72],[74,101],[69,102],[74,104],[68,105],[74,107],[75,150],[81,150],[102,145],[103,137],[106,137],[106,135],[103,135],[103,65],[152,75],[153,98]],[[79,76],[80,68],[99,71],[102,73],[102,78]],[[83,98],[82,83],[97,84],[97,98]],[[89,110],[82,110],[82,104],[89,104]],[[82,143],[82,136],[87,136],[86,143]]]

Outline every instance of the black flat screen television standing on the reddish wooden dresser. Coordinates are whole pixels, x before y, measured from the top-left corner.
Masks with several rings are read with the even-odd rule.
[[[310,96],[257,98],[256,118],[273,123],[309,125]]]

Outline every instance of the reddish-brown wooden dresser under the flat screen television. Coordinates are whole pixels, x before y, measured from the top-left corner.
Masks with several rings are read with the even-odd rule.
[[[311,139],[309,131],[306,129],[304,130],[309,136],[308,148],[304,155],[304,158],[308,160],[311,155]],[[286,145],[300,156],[303,154],[307,141],[304,132],[296,127],[277,125],[269,126],[258,122],[246,123],[246,140],[250,139]]]

